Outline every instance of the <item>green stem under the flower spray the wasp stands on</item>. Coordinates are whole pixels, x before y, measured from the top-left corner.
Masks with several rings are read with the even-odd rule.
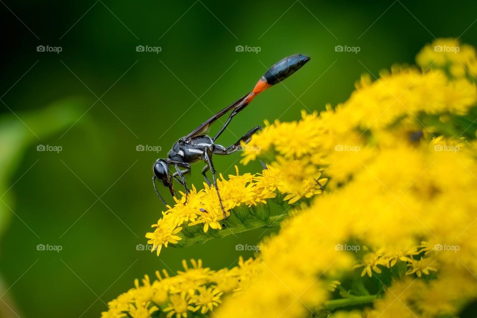
[[[250,230],[273,228],[278,226],[280,222],[287,217],[288,217],[287,213],[271,216],[270,221],[267,223],[264,223],[263,221],[260,221],[255,218],[251,218],[246,221],[246,225],[242,223],[237,223],[233,227],[217,231],[214,234],[200,232],[193,238],[183,238],[179,240],[177,244],[170,244],[169,246],[187,247],[187,246],[191,246],[198,243],[204,243],[210,239],[225,238],[225,237],[228,237],[229,235],[235,235],[235,234],[239,234],[239,233],[250,231]]]

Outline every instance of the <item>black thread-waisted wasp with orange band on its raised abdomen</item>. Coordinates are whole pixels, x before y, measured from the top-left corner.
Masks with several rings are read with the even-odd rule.
[[[225,107],[217,114],[210,117],[202,125],[194,129],[190,134],[180,138],[173,146],[172,149],[167,154],[167,159],[157,159],[153,165],[153,185],[156,194],[166,205],[166,202],[159,194],[158,188],[156,186],[156,178],[162,181],[162,184],[165,187],[169,188],[170,194],[174,196],[173,189],[173,178],[179,182],[185,188],[185,202],[187,202],[187,195],[189,193],[189,188],[185,181],[184,174],[189,173],[191,169],[191,163],[204,160],[206,165],[202,169],[202,174],[204,175],[205,181],[209,186],[211,182],[206,175],[206,172],[210,170],[212,173],[212,180],[214,182],[215,189],[217,190],[217,196],[219,197],[220,207],[224,213],[224,217],[227,218],[227,214],[224,210],[222,204],[222,199],[220,197],[219,189],[217,187],[217,178],[214,164],[212,163],[213,155],[230,155],[240,149],[240,143],[248,143],[254,133],[261,130],[260,126],[255,126],[250,129],[243,137],[241,137],[235,144],[226,148],[221,145],[217,145],[215,141],[219,136],[224,132],[232,118],[237,115],[241,110],[243,110],[250,102],[255,98],[256,95],[264,91],[265,89],[275,85],[276,83],[281,82],[282,80],[288,78],[290,75],[298,71],[302,66],[304,66],[310,58],[306,55],[295,54],[289,57],[284,58],[278,63],[274,64],[266,73],[263,75],[258,82],[256,83],[253,90],[243,97],[238,99],[233,104]],[[207,135],[208,128],[212,123],[217,121],[223,115],[232,111],[229,115],[229,118],[225,122],[224,126],[219,130],[214,138],[211,138]],[[175,167],[175,172],[172,176],[169,174],[169,166]],[[181,168],[184,168],[182,170]]]

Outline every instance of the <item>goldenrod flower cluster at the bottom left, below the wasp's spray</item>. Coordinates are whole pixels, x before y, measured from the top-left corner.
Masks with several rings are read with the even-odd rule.
[[[213,271],[203,267],[202,261],[191,259],[191,267],[182,261],[183,271],[169,276],[156,272],[157,279],[148,275],[134,282],[135,287],[108,303],[109,310],[101,318],[187,318],[213,311],[225,295],[240,293],[260,272],[258,259],[246,261],[240,257],[239,265],[231,269]],[[202,315],[199,315],[202,314]]]

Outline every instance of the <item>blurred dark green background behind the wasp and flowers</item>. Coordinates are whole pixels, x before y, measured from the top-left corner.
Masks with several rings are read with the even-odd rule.
[[[434,37],[477,44],[475,1],[1,2],[2,317],[98,317],[134,278],[175,271],[183,258],[219,269],[251,256],[235,245],[274,230],[167,248],[160,257],[137,244],[162,208],[151,185],[154,160],[281,58],[312,60],[255,99],[222,144],[264,119],[295,120],[301,109],[344,101],[361,74],[413,64]],[[37,52],[39,45],[62,52]],[[138,45],[161,51],[137,52]],[[360,52],[335,52],[336,45]],[[215,164],[233,173],[239,159]],[[201,167],[189,182],[202,183]]]

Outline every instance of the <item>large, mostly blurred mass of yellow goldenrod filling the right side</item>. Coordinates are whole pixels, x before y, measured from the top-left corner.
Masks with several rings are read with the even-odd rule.
[[[432,59],[428,51],[418,60]],[[331,189],[262,242],[262,274],[217,317],[309,317],[362,303],[337,316],[457,316],[477,299],[477,152],[472,121],[459,130],[455,120],[476,103],[467,78],[395,68],[362,79],[334,110],[252,138],[247,149],[260,152],[245,161],[267,152],[310,158]],[[251,305],[238,312],[240,304]]]

